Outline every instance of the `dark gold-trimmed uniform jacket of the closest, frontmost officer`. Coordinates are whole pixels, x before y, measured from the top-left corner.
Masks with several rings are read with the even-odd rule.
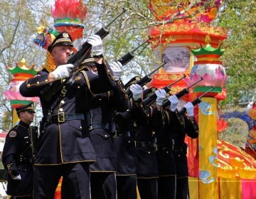
[[[52,85],[48,83],[48,71],[42,70],[36,77],[21,85],[21,95],[40,97],[43,109],[43,128],[35,165],[95,161],[87,119],[78,118],[64,122],[48,122],[48,119],[63,114],[86,117],[92,96],[112,89],[114,78],[107,69],[107,63],[96,66],[98,75],[93,75],[90,70],[80,70],[73,81],[68,82],[62,90],[55,91],[48,101],[44,98],[43,91],[55,82],[58,83],[58,80]]]

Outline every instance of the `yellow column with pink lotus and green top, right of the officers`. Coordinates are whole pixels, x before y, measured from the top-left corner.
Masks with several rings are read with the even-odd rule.
[[[200,48],[191,49],[196,57],[191,69],[189,82],[194,82],[203,77],[193,88],[193,92],[200,95],[201,92],[214,89],[202,98],[198,105],[198,156],[199,156],[199,198],[218,198],[218,150],[217,150],[217,123],[218,123],[218,93],[222,90],[227,80],[225,69],[219,60],[224,50],[210,45],[210,37],[206,36],[206,44]],[[222,98],[223,99],[223,98]]]

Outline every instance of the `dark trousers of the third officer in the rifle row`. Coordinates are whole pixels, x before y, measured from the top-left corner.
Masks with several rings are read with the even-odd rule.
[[[117,176],[117,198],[118,199],[136,199],[137,198],[136,175]]]

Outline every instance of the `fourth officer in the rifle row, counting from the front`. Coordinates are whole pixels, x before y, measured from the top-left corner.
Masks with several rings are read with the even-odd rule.
[[[144,198],[157,198],[157,178],[159,177],[159,169],[156,161],[156,130],[161,127],[161,123],[157,119],[161,119],[161,109],[157,109],[156,104],[145,106],[142,96],[138,96],[139,91],[142,93],[142,87],[139,85],[131,85],[135,102],[138,108],[142,107],[144,112],[138,116],[140,121],[136,122],[136,158],[137,158],[137,185],[139,195]],[[155,87],[151,87],[143,91],[143,98],[153,94]],[[159,101],[158,99],[156,100]],[[142,118],[144,118],[142,120]],[[160,125],[159,125],[160,124]]]

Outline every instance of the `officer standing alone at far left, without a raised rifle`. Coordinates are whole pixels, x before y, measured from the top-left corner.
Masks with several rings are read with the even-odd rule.
[[[35,115],[33,104],[17,107],[20,122],[6,136],[2,161],[8,175],[7,194],[11,198],[32,198],[33,162],[29,125]]]

